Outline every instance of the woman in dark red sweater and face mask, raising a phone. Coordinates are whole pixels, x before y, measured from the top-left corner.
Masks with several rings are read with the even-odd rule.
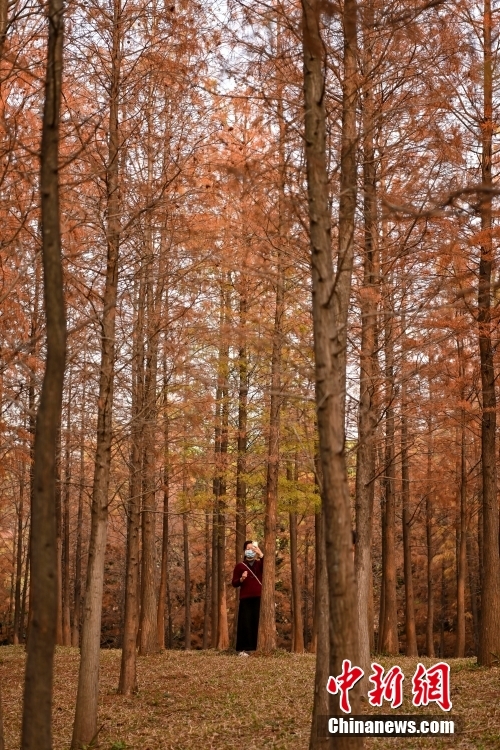
[[[257,648],[263,558],[257,542],[247,541],[243,545],[243,562],[237,563],[233,571],[233,586],[240,589],[236,631],[236,651],[240,656],[248,656],[247,651]]]

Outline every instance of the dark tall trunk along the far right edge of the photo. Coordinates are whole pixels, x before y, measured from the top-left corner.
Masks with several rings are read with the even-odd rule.
[[[483,582],[478,664],[492,666],[500,654],[500,554],[496,470],[496,394],[491,334],[491,279],[493,271],[491,172],[493,136],[493,52],[491,0],[483,6],[484,118],[481,127],[481,257],[479,261],[478,329],[481,362],[481,469],[483,479]]]

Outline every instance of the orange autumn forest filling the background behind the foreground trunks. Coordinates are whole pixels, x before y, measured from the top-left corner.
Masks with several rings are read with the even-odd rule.
[[[30,0],[5,8],[0,640],[18,643],[30,612],[33,436],[45,358],[37,195],[46,29]],[[404,651],[410,619],[420,653],[471,655],[483,555],[475,295],[484,229],[481,199],[470,188],[482,181],[484,8],[470,0],[428,7],[367,0],[360,11],[346,423],[354,528],[360,375],[369,360],[372,645]],[[67,8],[59,644],[79,645],[113,224],[119,250],[101,645],[122,645],[127,521],[140,506],[142,632],[154,623],[158,649],[229,646],[231,571],[244,539],[263,540],[271,492],[278,645],[315,647],[320,499],[300,14],[293,2],[113,0]],[[343,34],[333,10],[324,24],[335,236]],[[495,111],[495,28],[491,45]],[[495,144],[495,116],[492,122]],[[493,171],[496,158],[494,145]],[[494,243],[495,220],[494,208]],[[362,321],[370,315],[367,349]],[[396,645],[384,646],[379,621],[389,591]]]

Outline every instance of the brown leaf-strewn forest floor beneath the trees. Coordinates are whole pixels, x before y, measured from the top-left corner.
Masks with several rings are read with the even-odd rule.
[[[67,750],[71,739],[78,651],[58,648],[54,686],[54,750]],[[18,750],[21,727],[24,648],[0,648],[0,682],[6,750]],[[411,705],[411,677],[417,659],[381,658],[386,668],[399,664],[406,676],[405,700],[384,714],[440,714],[459,717],[454,737],[372,738],[365,748],[499,748],[500,668],[482,669],[475,659],[449,659],[453,710],[445,715],[429,706]],[[422,658],[430,666],[436,660]],[[99,712],[102,750],[307,750],[314,656],[277,652],[242,658],[214,651],[167,651],[138,660],[139,692],[116,694],[120,652],[101,651]]]

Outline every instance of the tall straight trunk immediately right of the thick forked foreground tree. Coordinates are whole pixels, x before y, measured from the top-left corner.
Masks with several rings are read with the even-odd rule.
[[[371,83],[373,2],[363,13],[363,213],[365,247],[363,256],[363,288],[361,290],[361,354],[358,409],[358,449],[356,455],[356,546],[354,565],[358,592],[360,666],[365,671],[364,691],[370,669],[370,643],[373,622],[370,602],[373,591],[372,527],[375,489],[375,375],[377,362],[377,188],[374,150],[375,104]],[[372,603],[373,609],[373,603]]]

